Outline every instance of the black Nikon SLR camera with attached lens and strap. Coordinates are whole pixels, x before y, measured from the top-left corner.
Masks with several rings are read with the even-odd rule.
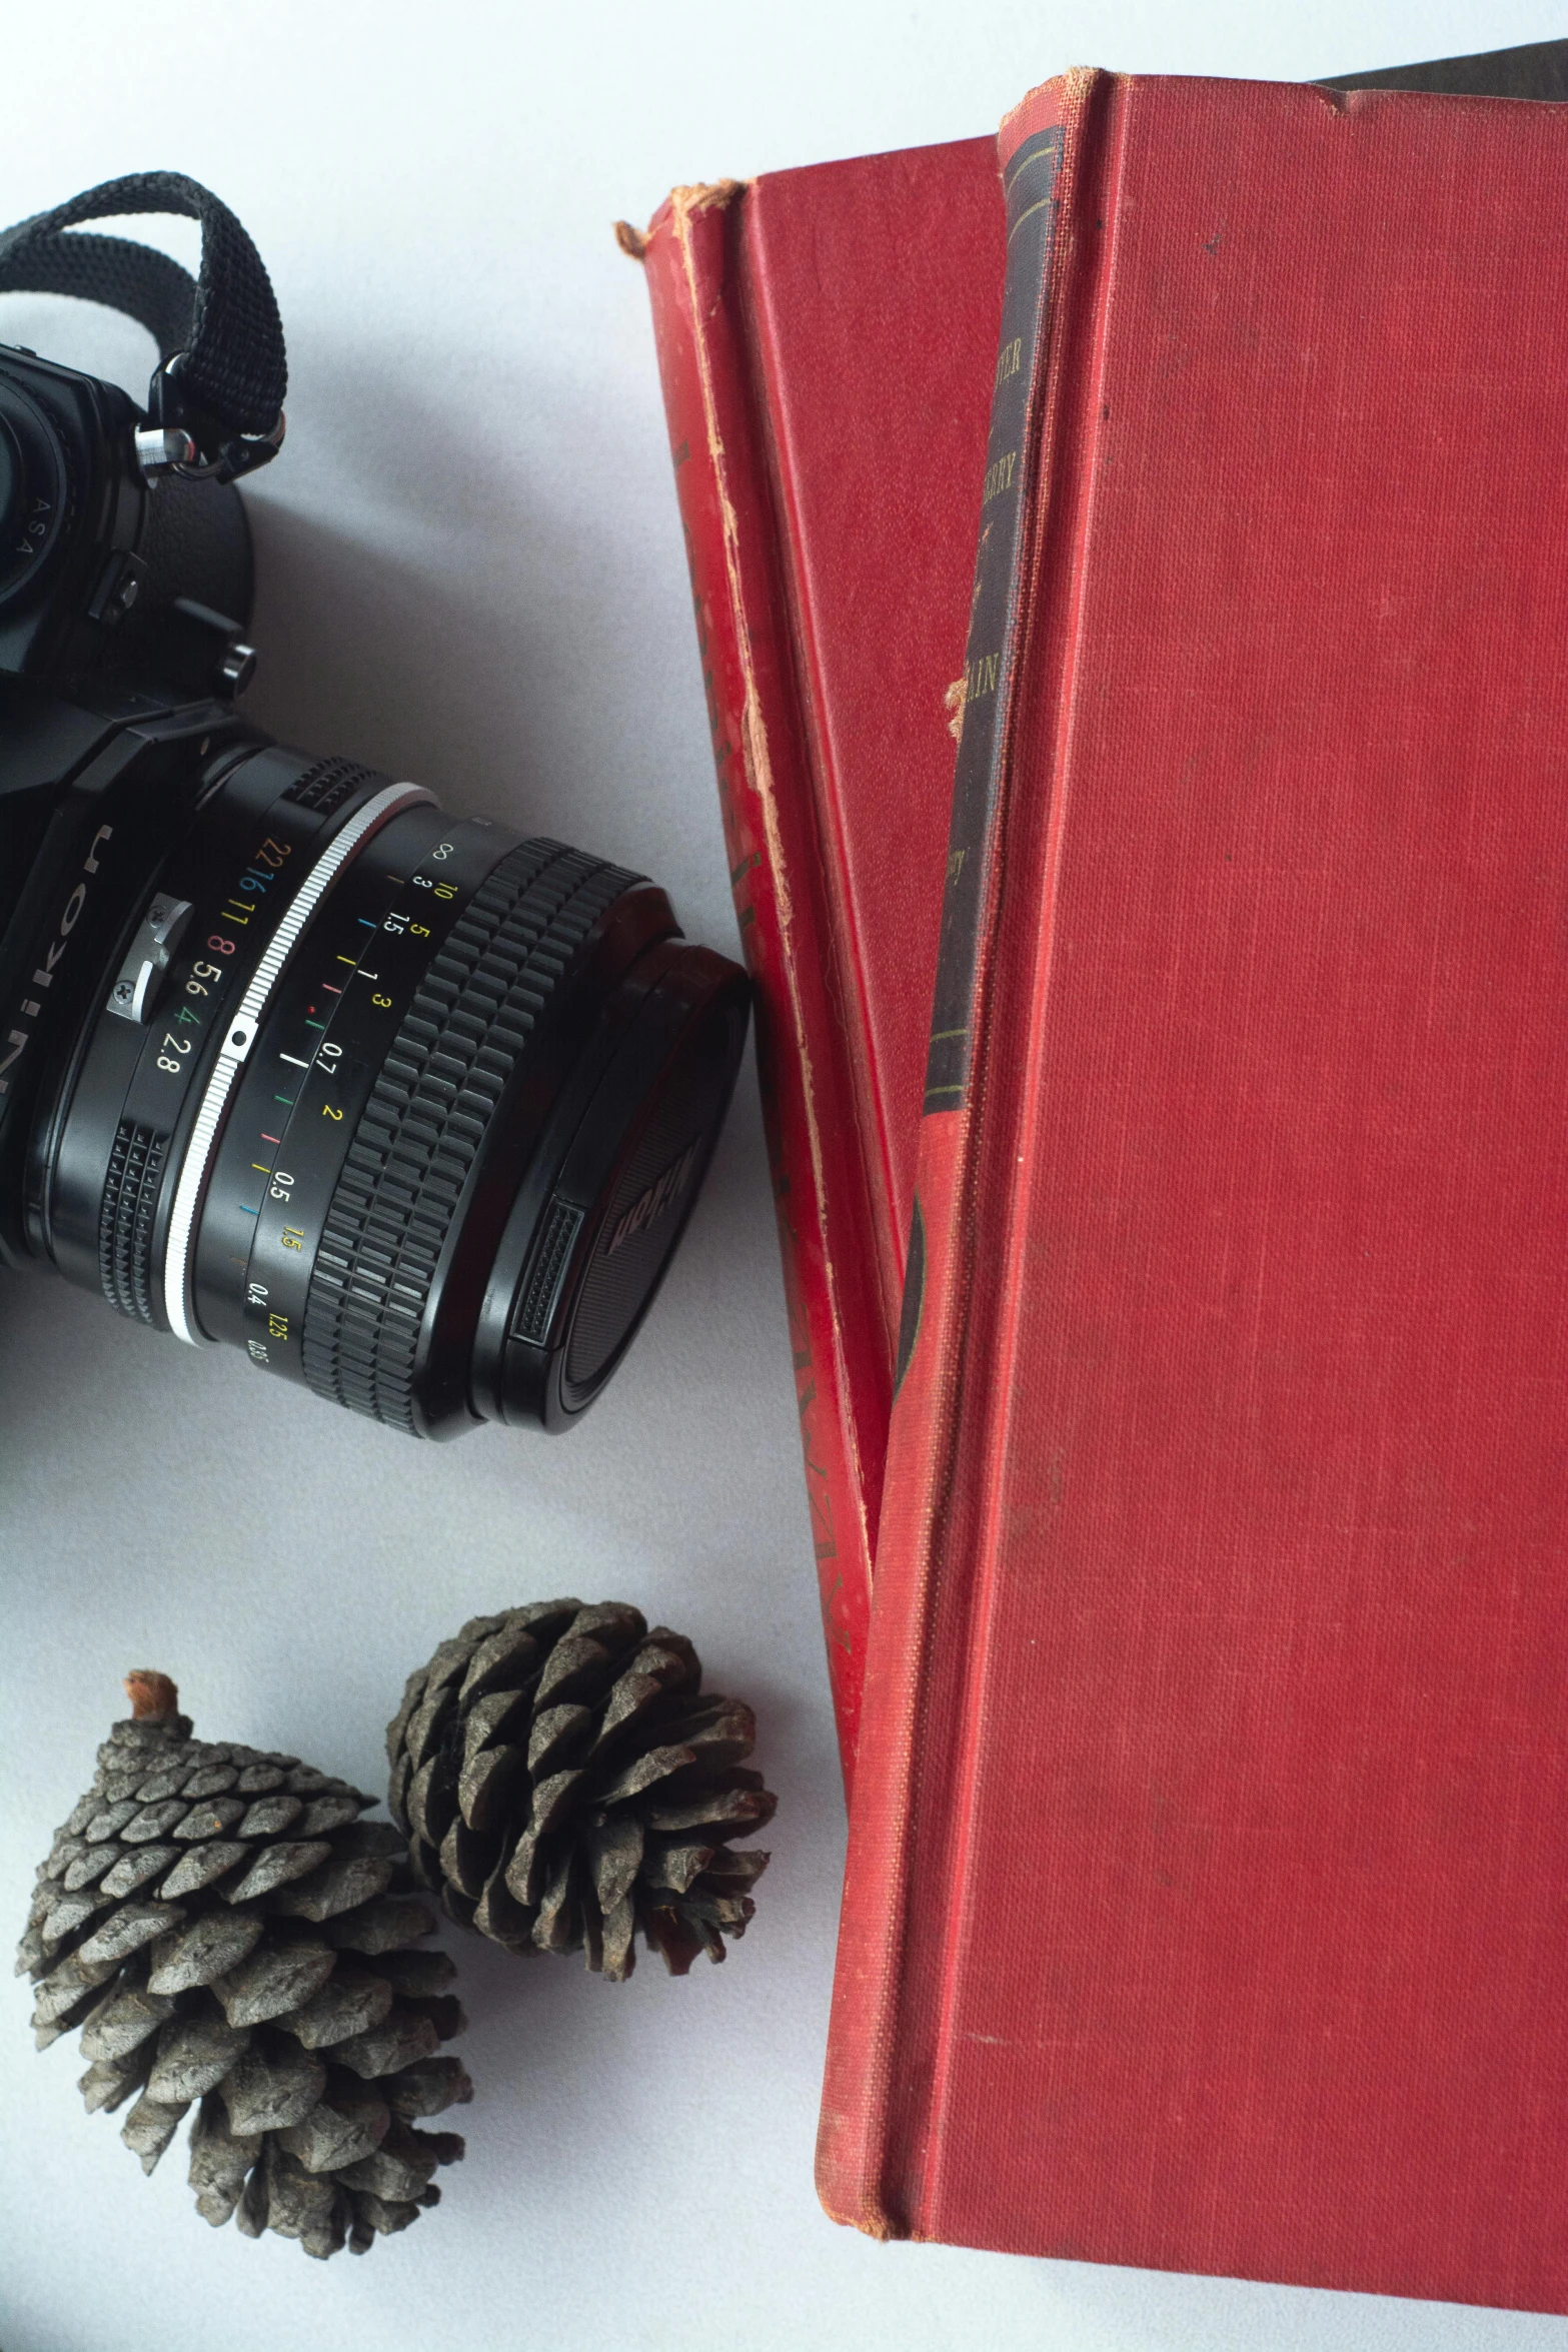
[[[82,221],[202,223],[193,282]],[[155,172],[0,289],[160,348],[148,412],[0,348],[0,1258],[416,1437],[569,1428],[712,1155],[745,976],[642,875],[273,743],[235,480],[282,442],[261,259]]]

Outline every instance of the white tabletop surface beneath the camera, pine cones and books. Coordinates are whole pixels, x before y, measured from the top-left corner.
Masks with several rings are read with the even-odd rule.
[[[646,296],[611,216],[987,132],[1067,64],[1309,78],[1563,31],[1533,0],[12,0],[0,219],[153,165],[209,181],[292,360],[289,447],[252,499],[252,713],[639,866],[731,948]],[[193,259],[193,233],[167,242]],[[9,296],[0,336],[146,386],[148,348],[103,315]],[[780,1792],[724,1969],[644,1959],[616,1990],[461,1938],[470,2154],[367,2260],[209,2232],[183,2150],[146,2183],[118,2119],[82,2112],[75,2044],[33,2056],[26,1990],[2,1994],[2,2352],[1568,2345],[1556,2319],[882,2249],[820,2216],[842,1802],[750,1073],[654,1317],[567,1442],[416,1449],[52,1277],[0,1284],[16,1926],[129,1665],[174,1672],[197,1733],[381,1788],[402,1679],[465,1616],[623,1597],[755,1700]]]

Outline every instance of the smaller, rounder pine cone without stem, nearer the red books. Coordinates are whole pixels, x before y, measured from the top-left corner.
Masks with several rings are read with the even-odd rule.
[[[496,1943],[585,1947],[616,1980],[637,1929],[672,1976],[724,1959],[769,1860],[729,1839],[776,1799],[741,1764],[752,1710],[701,1684],[691,1642],[618,1602],[470,1618],[386,1733],[414,1877]]]

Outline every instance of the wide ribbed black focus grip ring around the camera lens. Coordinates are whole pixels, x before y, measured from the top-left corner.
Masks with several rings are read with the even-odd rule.
[[[524,842],[475,891],[416,990],[348,1148],[306,1303],[320,1397],[416,1430],[425,1305],[496,1105],[541,1014],[637,875]]]

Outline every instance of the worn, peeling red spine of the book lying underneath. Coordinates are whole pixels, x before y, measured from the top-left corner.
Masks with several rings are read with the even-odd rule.
[[[853,1778],[886,1444],[870,1202],[827,997],[830,924],[738,285],[745,191],[677,188],[642,259],[675,456],[783,1251],[844,1785]]]

